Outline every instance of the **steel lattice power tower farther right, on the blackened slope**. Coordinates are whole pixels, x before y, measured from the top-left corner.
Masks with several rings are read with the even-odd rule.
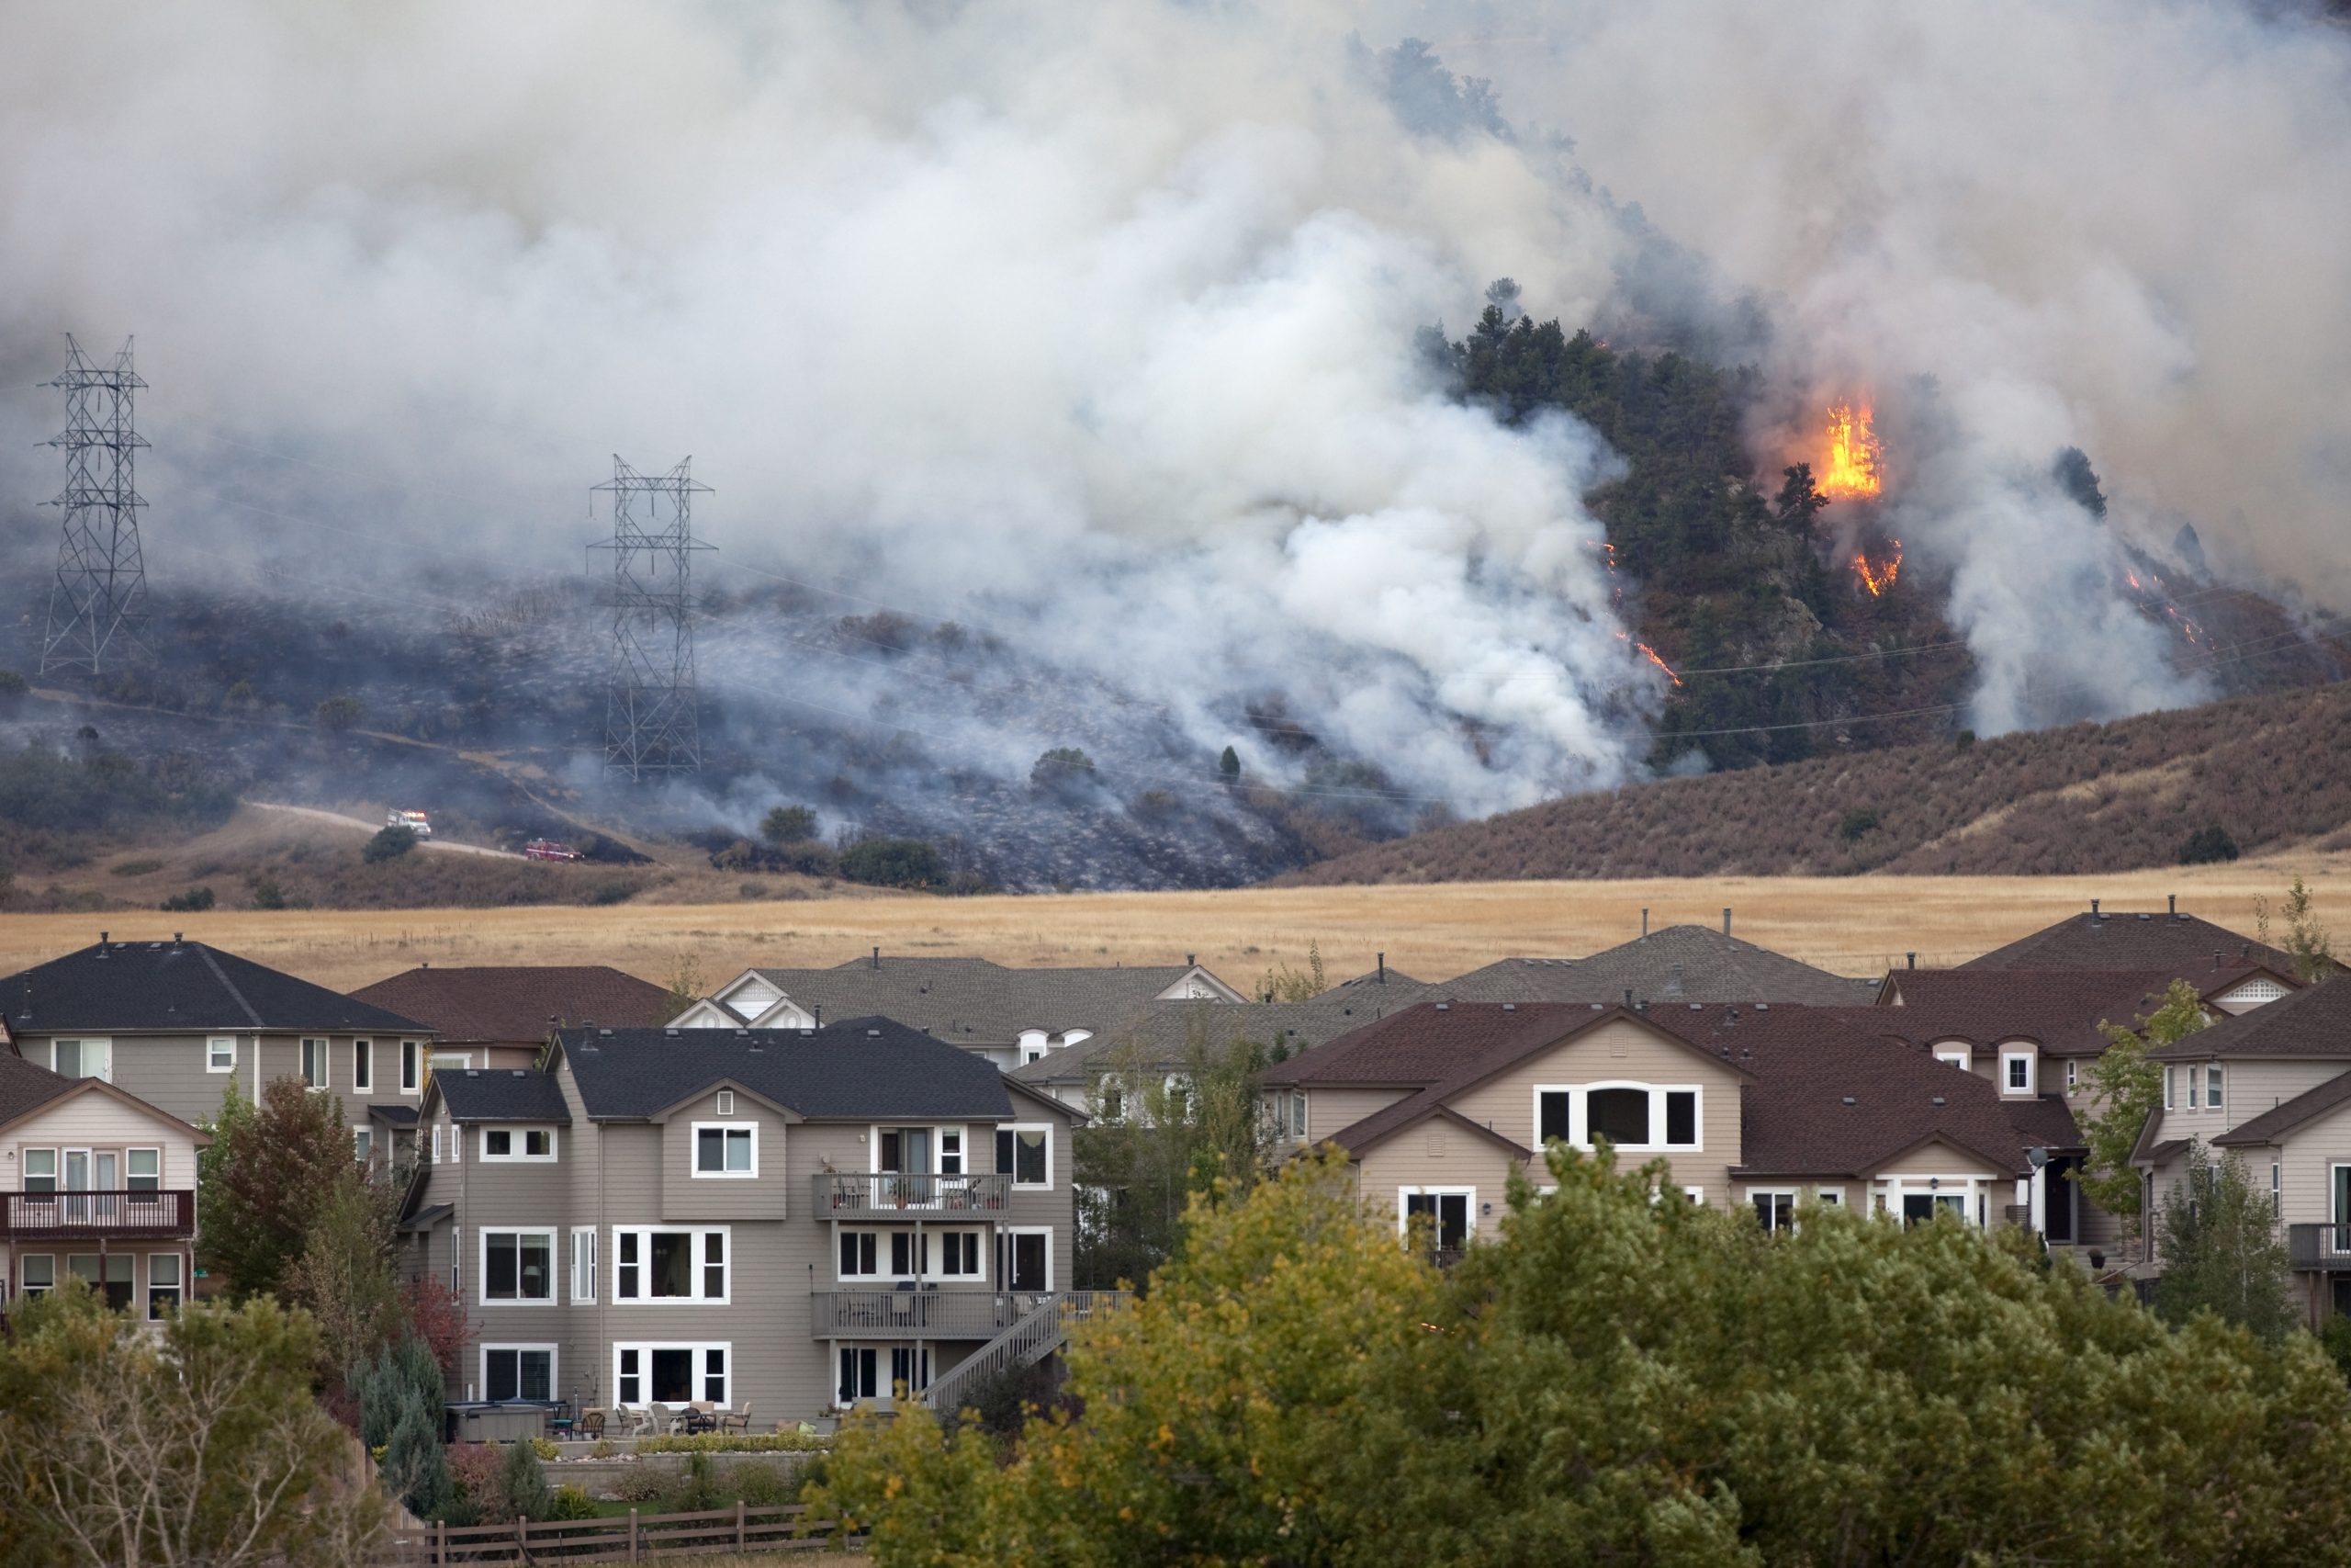
[[[618,456],[611,482],[611,675],[604,684],[604,773],[691,773],[703,766],[694,691],[694,496],[684,458],[642,475]]]

